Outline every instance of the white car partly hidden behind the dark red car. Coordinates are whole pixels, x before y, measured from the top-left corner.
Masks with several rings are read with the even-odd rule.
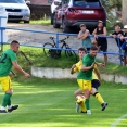
[[[61,4],[61,0],[53,0],[50,2],[51,2],[51,24],[53,24],[53,14],[54,14],[55,8]]]

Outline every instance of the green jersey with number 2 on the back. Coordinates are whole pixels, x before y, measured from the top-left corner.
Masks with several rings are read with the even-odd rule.
[[[0,58],[0,77],[9,76],[12,68],[12,61],[16,61],[16,54],[11,49],[2,52]]]

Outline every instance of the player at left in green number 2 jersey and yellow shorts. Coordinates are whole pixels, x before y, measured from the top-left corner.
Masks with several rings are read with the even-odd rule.
[[[10,45],[10,49],[2,52],[0,58],[0,82],[2,85],[2,89],[5,92],[2,101],[2,106],[0,109],[0,113],[8,113],[16,110],[18,105],[11,104],[11,97],[13,93],[12,85],[11,85],[11,68],[12,66],[22,73],[26,78],[29,78],[30,75],[22,69],[22,67],[17,64],[16,61],[16,52],[18,51],[20,43],[16,40],[13,40]],[[10,76],[9,76],[10,75]],[[8,112],[5,110],[8,105]]]

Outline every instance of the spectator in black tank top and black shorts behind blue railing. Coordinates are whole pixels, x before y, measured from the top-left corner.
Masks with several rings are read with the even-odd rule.
[[[103,52],[107,51],[107,40],[106,40],[106,27],[103,26],[102,21],[98,21],[98,27],[93,30],[92,35],[96,38],[97,45]],[[102,37],[103,36],[103,37]],[[104,53],[104,66],[106,66],[107,55]]]

